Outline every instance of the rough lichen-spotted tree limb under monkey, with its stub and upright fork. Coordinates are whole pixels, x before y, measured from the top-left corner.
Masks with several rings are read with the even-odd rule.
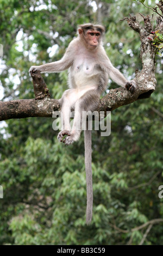
[[[160,11],[162,11],[163,2],[160,1]],[[143,16],[142,14],[140,14]],[[126,17],[128,25],[140,35],[140,58],[142,61],[142,70],[135,71],[136,90],[130,93],[124,88],[111,89],[104,96],[97,108],[98,111],[112,111],[120,106],[130,104],[139,99],[150,97],[156,86],[155,79],[155,47],[148,39],[149,34],[154,30],[149,16],[143,16],[144,26],[141,26],[136,17]],[[155,30],[160,29],[163,32],[163,16],[157,17],[157,26]],[[35,99],[30,100],[12,100],[7,102],[0,101],[0,121],[14,118],[27,117],[52,117],[53,111],[60,111],[59,100],[51,99],[48,89],[40,73],[31,74],[33,77]]]

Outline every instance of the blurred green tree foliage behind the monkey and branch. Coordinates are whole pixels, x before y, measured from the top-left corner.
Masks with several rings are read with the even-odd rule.
[[[155,2],[146,1],[148,7]],[[140,39],[126,21],[142,25],[152,10],[136,1],[0,0],[0,100],[34,98],[31,65],[59,60],[77,26],[106,28],[105,50],[129,80],[141,70]],[[155,15],[153,17],[155,25]],[[83,133],[65,147],[53,118],[0,122],[1,245],[163,245],[162,64],[156,56],[155,92],[111,113],[111,135],[92,132],[93,220],[85,224]],[[43,74],[54,99],[67,88],[67,71]],[[108,89],[117,84],[109,80]]]

